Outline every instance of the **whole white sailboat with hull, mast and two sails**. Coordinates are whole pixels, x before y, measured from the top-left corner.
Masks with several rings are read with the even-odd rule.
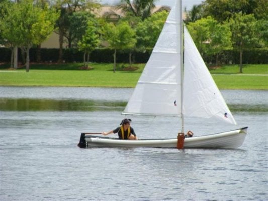
[[[184,117],[215,118],[230,124],[236,121],[186,27],[183,32],[182,0],[176,0],[172,7],[122,114],[177,116],[181,118],[181,131],[177,138],[143,140],[82,133],[78,146],[181,149],[237,148],[243,144],[247,127],[197,137],[184,134]]]

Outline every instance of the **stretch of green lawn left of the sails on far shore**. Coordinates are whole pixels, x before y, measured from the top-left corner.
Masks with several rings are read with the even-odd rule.
[[[122,64],[121,64],[122,65]],[[80,70],[80,63],[62,65],[31,65],[30,72],[24,69],[0,70],[2,86],[90,86],[90,87],[134,87],[144,64],[137,64],[136,71],[113,72],[113,64],[91,64],[92,70]]]

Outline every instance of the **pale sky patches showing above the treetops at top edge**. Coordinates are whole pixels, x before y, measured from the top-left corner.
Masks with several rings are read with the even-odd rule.
[[[119,3],[120,0],[99,0],[102,4],[116,4]],[[200,4],[203,0],[182,0],[183,8],[186,7],[187,10],[190,10],[193,5]],[[156,0],[155,5],[165,5],[165,6],[173,6],[175,0]]]

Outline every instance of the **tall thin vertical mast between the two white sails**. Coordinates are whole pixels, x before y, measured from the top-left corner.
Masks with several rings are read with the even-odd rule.
[[[180,25],[180,62],[181,62],[181,133],[184,133],[184,114],[183,114],[183,94],[184,94],[184,51],[183,51],[183,17],[182,17],[182,0],[178,0],[179,25]]]

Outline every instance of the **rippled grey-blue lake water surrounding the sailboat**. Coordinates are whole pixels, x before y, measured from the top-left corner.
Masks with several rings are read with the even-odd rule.
[[[0,200],[268,200],[268,91],[223,90],[238,125],[187,118],[196,136],[249,126],[239,149],[80,149],[118,126],[133,89],[0,87]],[[130,116],[140,138],[177,118]]]

